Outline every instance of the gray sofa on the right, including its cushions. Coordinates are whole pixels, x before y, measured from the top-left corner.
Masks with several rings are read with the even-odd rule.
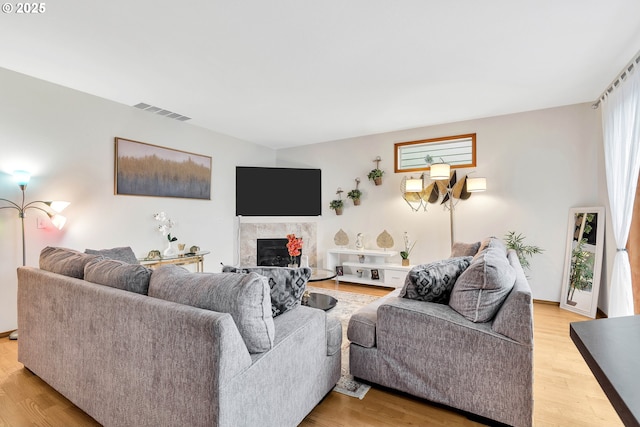
[[[531,289],[514,251],[507,254],[489,239],[469,256],[478,246],[462,257],[417,266],[404,288],[354,314],[347,330],[350,371],[368,382],[528,427]]]

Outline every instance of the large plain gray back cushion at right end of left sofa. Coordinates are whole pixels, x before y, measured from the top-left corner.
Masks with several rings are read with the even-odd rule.
[[[231,314],[250,353],[273,346],[269,285],[256,273],[191,273],[167,265],[151,273],[149,296]]]

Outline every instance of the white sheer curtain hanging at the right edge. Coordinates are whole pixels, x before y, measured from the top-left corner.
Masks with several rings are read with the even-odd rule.
[[[640,70],[637,68],[602,103],[605,172],[617,247],[609,317],[633,315],[631,266],[625,247],[640,169]]]

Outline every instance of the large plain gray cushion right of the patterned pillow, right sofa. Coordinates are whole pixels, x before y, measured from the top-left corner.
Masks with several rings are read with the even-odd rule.
[[[516,273],[500,247],[487,247],[458,277],[449,305],[472,322],[488,322],[511,291]]]

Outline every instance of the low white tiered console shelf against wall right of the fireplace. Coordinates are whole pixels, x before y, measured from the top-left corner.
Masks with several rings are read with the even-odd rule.
[[[327,269],[336,271],[342,267],[342,275],[338,273],[339,282],[360,283],[364,285],[401,288],[404,279],[412,266],[385,262],[389,257],[397,255],[396,251],[374,249],[329,249],[327,251]],[[358,270],[361,274],[358,274]]]

